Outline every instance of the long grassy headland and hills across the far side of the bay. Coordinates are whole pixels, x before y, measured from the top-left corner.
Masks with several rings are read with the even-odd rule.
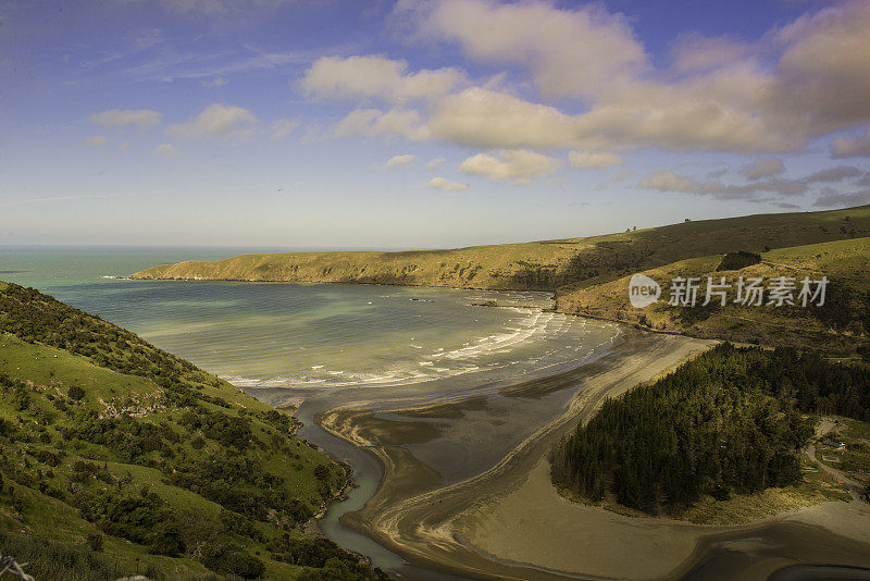
[[[865,343],[862,319],[870,320],[861,298],[870,281],[868,245],[870,206],[862,206],[452,250],[244,255],[153,267],[132,277],[549,290],[559,312],[698,337],[854,351]],[[746,250],[758,252],[760,263],[729,275],[826,273],[833,277],[832,304],[823,311],[733,305],[687,309],[668,306],[666,296],[645,309],[629,305],[629,279],[635,273],[660,283],[674,276],[706,280],[723,274],[717,271],[723,255]]]

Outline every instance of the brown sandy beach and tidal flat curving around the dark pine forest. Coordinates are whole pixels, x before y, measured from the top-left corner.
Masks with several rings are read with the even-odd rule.
[[[518,382],[497,397],[321,412],[315,420],[323,429],[371,453],[384,473],[365,506],[340,520],[414,566],[471,579],[712,581],[767,579],[795,564],[870,567],[870,506],[860,503],[709,527],[583,506],[550,485],[546,457],[555,442],[606,397],[710,345],[627,331],[606,356]],[[562,397],[564,406],[543,428],[523,431],[519,421],[511,433],[509,404],[522,409],[548,397]]]

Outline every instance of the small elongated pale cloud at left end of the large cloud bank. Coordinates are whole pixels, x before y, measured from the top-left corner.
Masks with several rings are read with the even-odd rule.
[[[408,73],[408,63],[377,55],[323,57],[304,73],[302,91],[311,98],[372,98],[401,102],[440,97],[464,82],[456,69]]]

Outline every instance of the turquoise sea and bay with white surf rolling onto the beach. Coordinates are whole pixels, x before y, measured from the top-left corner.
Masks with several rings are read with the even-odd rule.
[[[273,403],[341,387],[411,393],[445,380],[461,391],[573,363],[613,336],[605,323],[542,312],[550,305],[544,293],[107,277],[236,254],[4,249],[0,280],[99,314]],[[504,308],[473,306],[486,300]]]

